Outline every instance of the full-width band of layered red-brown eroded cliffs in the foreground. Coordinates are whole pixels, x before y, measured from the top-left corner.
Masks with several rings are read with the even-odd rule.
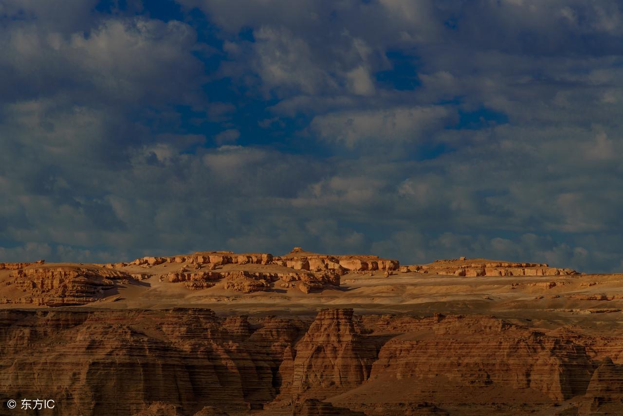
[[[360,317],[349,309],[315,319],[2,310],[0,399],[46,397],[57,404],[49,414],[70,416],[464,414],[465,403],[487,409],[482,397],[500,389],[552,414],[570,399],[582,415],[619,409],[621,367],[591,358],[580,338],[490,316]],[[432,402],[396,395],[401,385],[435,386]],[[457,389],[475,395],[460,397],[461,407]],[[502,414],[523,409],[504,397],[497,406]]]

